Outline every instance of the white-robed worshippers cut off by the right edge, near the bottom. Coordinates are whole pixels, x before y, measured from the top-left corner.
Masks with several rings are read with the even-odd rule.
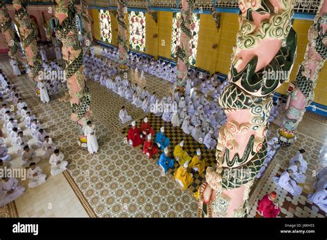
[[[308,194],[308,199],[327,213],[327,167],[321,169],[316,177],[315,192]]]

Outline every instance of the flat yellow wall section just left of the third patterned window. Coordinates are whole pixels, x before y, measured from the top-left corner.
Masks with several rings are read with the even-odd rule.
[[[172,41],[172,12],[158,12],[159,24],[159,51],[162,57],[170,59]]]

